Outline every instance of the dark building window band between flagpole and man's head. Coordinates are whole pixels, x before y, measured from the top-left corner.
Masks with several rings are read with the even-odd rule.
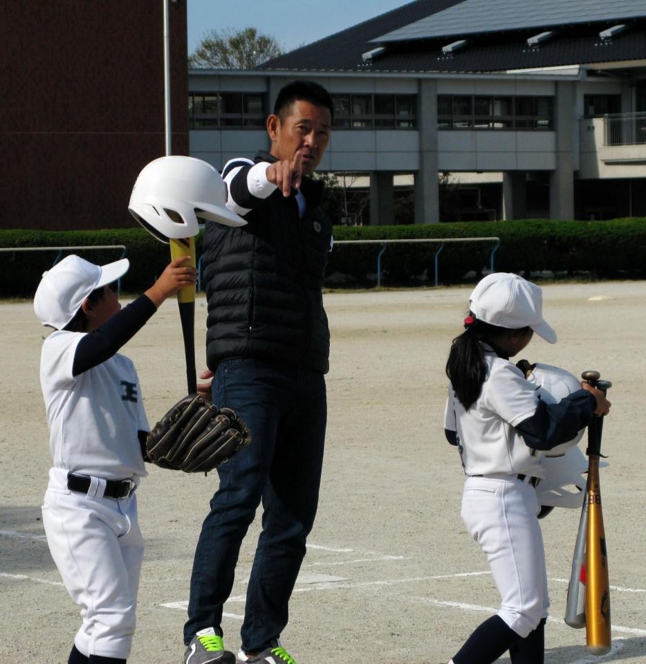
[[[265,95],[256,92],[191,92],[190,129],[258,129],[265,126]]]

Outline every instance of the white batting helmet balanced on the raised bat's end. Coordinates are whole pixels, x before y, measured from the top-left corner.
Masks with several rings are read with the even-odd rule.
[[[128,210],[162,242],[200,232],[197,218],[228,226],[247,222],[226,207],[227,188],[212,165],[180,155],[160,157],[140,172]]]

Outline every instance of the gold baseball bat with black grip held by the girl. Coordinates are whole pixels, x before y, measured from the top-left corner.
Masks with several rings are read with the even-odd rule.
[[[609,380],[599,380],[598,371],[584,371],[582,378],[604,393],[612,386]],[[588,528],[585,554],[585,627],[587,650],[595,655],[606,654],[611,647],[608,552],[599,481],[602,427],[603,416],[595,417],[588,427],[587,450]]]

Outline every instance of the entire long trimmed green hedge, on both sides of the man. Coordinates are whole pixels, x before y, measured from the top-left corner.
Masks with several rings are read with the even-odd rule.
[[[335,241],[499,237],[496,270],[555,277],[646,278],[646,219],[611,221],[491,221],[433,225],[337,226]],[[122,290],[140,293],[163,270],[168,247],[140,228],[98,231],[0,230],[0,248],[125,245],[131,268]],[[434,284],[439,243],[391,244],[382,256],[383,286]],[[379,244],[337,245],[331,252],[326,286],[373,286]],[[475,280],[490,264],[492,243],[448,243],[439,255],[441,284]],[[201,235],[196,249],[201,254]],[[120,257],[120,250],[76,250],[95,263]],[[44,270],[57,257],[45,252],[0,252],[0,297],[32,297]],[[66,252],[68,253],[68,252]]]

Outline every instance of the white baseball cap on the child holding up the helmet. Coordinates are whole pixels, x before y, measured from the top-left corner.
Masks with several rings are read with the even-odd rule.
[[[34,296],[34,311],[43,325],[62,330],[92,291],[116,282],[129,267],[127,258],[99,266],[74,254],[66,256],[43,273]]]

